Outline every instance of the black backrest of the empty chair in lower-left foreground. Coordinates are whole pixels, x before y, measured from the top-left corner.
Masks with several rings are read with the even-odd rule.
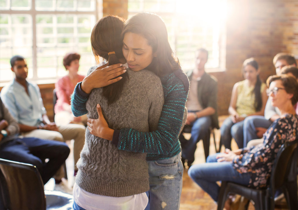
[[[46,209],[44,184],[34,165],[0,159],[0,171],[5,209]]]

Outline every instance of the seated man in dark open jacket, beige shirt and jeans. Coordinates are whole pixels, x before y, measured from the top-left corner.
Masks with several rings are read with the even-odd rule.
[[[187,159],[187,165],[193,163],[196,144],[204,138],[210,126],[219,128],[217,115],[217,81],[205,72],[208,51],[201,48],[195,52],[195,69],[187,73],[190,80],[190,90],[186,101],[187,120],[184,129],[191,127],[189,141],[183,134],[179,140],[182,147],[182,162]]]

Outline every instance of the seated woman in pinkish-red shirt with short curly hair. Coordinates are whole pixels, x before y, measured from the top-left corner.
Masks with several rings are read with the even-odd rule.
[[[80,54],[68,53],[63,58],[63,65],[68,74],[63,76],[55,84],[57,103],[55,104],[55,123],[57,125],[65,125],[68,123],[77,123],[84,126],[87,125],[86,115],[75,117],[72,114],[70,106],[70,96],[78,82],[82,82],[85,76],[78,74],[80,67]]]

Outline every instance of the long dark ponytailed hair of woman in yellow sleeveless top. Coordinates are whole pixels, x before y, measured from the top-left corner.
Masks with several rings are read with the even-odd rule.
[[[251,65],[252,67],[254,67],[256,69],[256,71],[259,69],[259,65],[254,58],[248,58],[243,62],[242,71],[244,70],[244,68],[247,65]],[[257,75],[257,82],[256,82],[256,84],[254,86],[254,90],[253,90],[253,93],[255,96],[254,108],[256,109],[256,111],[260,111],[262,109],[262,104],[263,104],[262,95],[261,95],[261,85],[262,85],[262,81],[260,79],[260,76]]]

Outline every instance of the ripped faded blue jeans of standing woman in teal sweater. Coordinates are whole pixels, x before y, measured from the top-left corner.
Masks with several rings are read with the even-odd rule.
[[[180,153],[168,159],[147,161],[150,209],[179,209],[183,166]]]

